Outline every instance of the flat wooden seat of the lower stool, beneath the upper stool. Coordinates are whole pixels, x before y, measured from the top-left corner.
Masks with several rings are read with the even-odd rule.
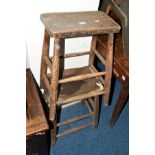
[[[66,69],[63,72],[62,78],[84,75],[92,72],[94,71],[90,66]],[[51,74],[47,75],[47,79],[50,85]],[[63,105],[69,102],[83,100],[104,93],[104,86],[99,78],[90,78],[87,80],[60,84],[57,105]]]

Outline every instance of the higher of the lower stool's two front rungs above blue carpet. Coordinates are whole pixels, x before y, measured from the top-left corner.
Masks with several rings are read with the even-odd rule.
[[[92,115],[94,115],[94,113],[85,114],[85,115],[82,115],[80,117],[71,118],[71,119],[69,119],[67,121],[57,123],[57,127],[62,126],[62,125],[66,125],[66,124],[70,124],[70,123],[73,123],[73,122],[76,122],[76,121],[80,121],[80,120],[88,118],[88,117],[90,117]]]

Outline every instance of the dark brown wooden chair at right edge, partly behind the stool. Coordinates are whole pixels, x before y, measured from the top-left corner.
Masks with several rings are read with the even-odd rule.
[[[129,96],[129,24],[128,0],[101,0],[100,10],[106,12],[112,19],[122,26],[122,30],[114,36],[114,67],[113,74],[121,83],[121,92],[116,102],[110,125],[117,121]],[[107,36],[97,38],[97,50],[105,58]]]

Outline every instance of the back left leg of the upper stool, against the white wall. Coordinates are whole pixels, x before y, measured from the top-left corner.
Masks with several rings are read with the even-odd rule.
[[[44,40],[43,40],[43,49],[42,49],[42,57],[41,57],[41,67],[40,67],[40,88],[43,88],[42,78],[43,75],[47,73],[47,64],[45,62],[44,57],[49,56],[49,44],[50,44],[50,36],[45,29],[44,32]]]

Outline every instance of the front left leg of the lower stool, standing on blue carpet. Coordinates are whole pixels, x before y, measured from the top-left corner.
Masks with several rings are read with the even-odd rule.
[[[52,121],[51,145],[54,145],[56,143],[56,134],[57,134],[57,117],[55,116],[55,120]]]

